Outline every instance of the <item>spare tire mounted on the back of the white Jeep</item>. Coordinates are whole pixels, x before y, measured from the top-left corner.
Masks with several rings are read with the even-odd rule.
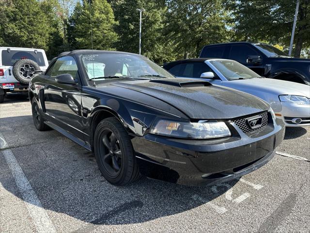
[[[40,70],[39,65],[30,59],[20,59],[13,65],[13,75],[17,81],[28,84],[34,71]]]

